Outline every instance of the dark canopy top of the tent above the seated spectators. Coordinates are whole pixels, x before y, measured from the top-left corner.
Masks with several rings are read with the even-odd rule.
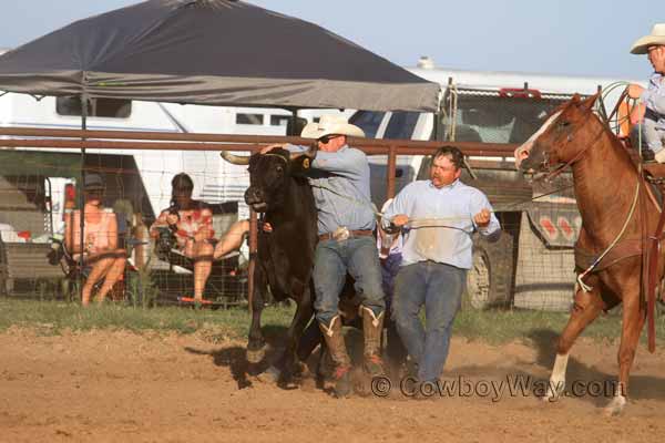
[[[0,56],[0,90],[211,105],[434,111],[439,85],[242,1],[149,0]]]

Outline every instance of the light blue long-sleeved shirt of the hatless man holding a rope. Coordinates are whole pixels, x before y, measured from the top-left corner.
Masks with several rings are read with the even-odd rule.
[[[492,213],[490,224],[479,228],[473,216],[483,208],[492,210],[485,195],[459,179],[442,188],[431,181],[418,181],[406,186],[383,213],[382,225],[388,227],[398,214],[409,217],[403,231],[401,266],[432,260],[471,269],[471,235],[479,231],[489,240],[501,234],[499,220]]]

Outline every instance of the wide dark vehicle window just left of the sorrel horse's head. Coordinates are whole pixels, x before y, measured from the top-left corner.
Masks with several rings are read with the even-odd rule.
[[[440,122],[444,140],[482,143],[523,143],[550,113],[559,99],[460,95],[457,110]]]

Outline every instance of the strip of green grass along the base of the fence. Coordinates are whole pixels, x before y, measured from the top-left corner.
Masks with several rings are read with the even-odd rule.
[[[262,324],[264,329],[285,328],[293,312],[294,307],[268,307],[264,310]],[[462,310],[456,318],[453,336],[492,344],[553,338],[563,330],[567,317],[564,312]],[[0,298],[0,332],[11,327],[34,329],[42,334],[103,329],[139,333],[203,332],[205,339],[211,341],[226,338],[244,340],[249,315],[244,308],[212,311],[181,307],[146,309],[108,303],[83,309],[74,302]],[[584,331],[583,337],[613,341],[620,334],[621,316],[601,316]],[[656,318],[656,337],[661,343],[665,340],[665,317]],[[643,333],[643,341],[645,339],[646,332]]]

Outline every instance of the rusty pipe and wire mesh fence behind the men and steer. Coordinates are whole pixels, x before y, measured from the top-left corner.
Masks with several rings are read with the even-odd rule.
[[[213,272],[206,286],[206,298],[235,303],[244,299],[252,287],[249,251],[256,247],[256,217],[243,200],[248,186],[247,172],[223,162],[218,152],[253,152],[272,143],[310,143],[282,136],[35,128],[0,128],[0,146],[4,147],[0,151],[0,290],[10,296],[66,296],[62,289],[66,269],[59,264],[48,265],[45,256],[53,235],[62,233],[63,214],[72,209],[65,207],[68,193],[79,192],[84,171],[104,177],[104,206],[114,214],[122,214],[120,218],[124,218],[126,225],[124,235],[131,240],[129,257],[133,270],[123,284],[125,297],[141,299],[152,291],[165,302],[175,300],[177,295],[191,293],[193,286],[192,270],[156,257],[155,241],[145,234],[158,212],[170,205],[172,177],[180,172],[188,173],[195,184],[193,197],[217,207],[216,236],[236,218],[253,220],[248,247]],[[370,155],[375,165],[372,175],[381,187],[381,192],[375,188],[375,203],[379,207],[383,198],[393,196],[405,183],[427,174],[427,162],[418,171],[405,173],[405,159],[429,155],[442,144],[350,140],[350,145]],[[514,144],[474,141],[446,144],[458,146],[470,158],[483,157],[469,162],[471,172],[518,175],[507,162],[516,147]],[[548,241],[543,237],[543,233],[548,235],[546,229],[539,229],[540,218],[531,198],[542,189],[534,190],[523,178],[513,177],[513,184],[507,185],[503,179],[491,178],[491,174],[478,187],[487,192],[493,186],[492,195],[505,197],[510,194],[512,197],[495,204],[505,230],[504,240],[494,246],[478,245],[471,272],[474,292],[469,295],[472,305],[505,307],[514,303],[520,308],[567,309],[574,281],[572,249],[570,245]],[[469,173],[463,179],[472,186],[478,184]],[[236,205],[231,210],[229,203]],[[222,208],[224,204],[227,205],[225,209]],[[561,217],[570,218],[571,204],[574,207],[574,202],[562,203],[565,215]],[[550,198],[549,205],[550,212],[557,210],[555,199]],[[561,217],[552,217],[553,229],[563,229],[565,224],[561,225]],[[574,227],[574,222],[571,226]],[[127,288],[134,288],[135,293]],[[71,289],[66,290],[73,297]],[[116,296],[122,297],[122,291]]]

